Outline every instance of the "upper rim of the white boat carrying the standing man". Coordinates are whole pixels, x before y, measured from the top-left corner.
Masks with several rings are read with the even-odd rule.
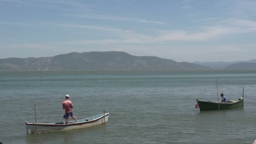
[[[27,123],[27,121],[25,122],[26,125],[40,125],[40,126],[73,126],[73,125],[83,125],[83,124],[87,124],[87,123],[93,123],[103,117],[106,117],[109,115],[109,113],[106,113],[105,115],[104,114],[100,114],[102,115],[101,117],[98,117],[94,120],[88,120],[88,121],[85,121],[85,122],[80,122],[80,123],[68,123],[68,124],[54,124],[54,123]],[[92,116],[92,117],[96,117],[98,115],[95,115],[95,116]],[[88,117],[90,118],[90,117]],[[88,118],[84,118],[84,119],[88,119]],[[84,119],[80,119],[80,120],[84,120]]]

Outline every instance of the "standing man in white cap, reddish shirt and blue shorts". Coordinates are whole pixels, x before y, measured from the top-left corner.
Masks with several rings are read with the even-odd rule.
[[[77,119],[73,115],[72,108],[73,108],[73,103],[72,101],[69,101],[69,95],[66,95],[66,101],[63,101],[62,103],[63,109],[65,109],[65,115],[66,115],[66,123],[69,123],[69,116],[72,117],[77,123]]]

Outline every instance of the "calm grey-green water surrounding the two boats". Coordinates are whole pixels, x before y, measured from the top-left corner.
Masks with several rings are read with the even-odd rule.
[[[241,97],[244,109],[200,112],[196,99]],[[0,72],[3,144],[252,144],[256,70]],[[109,112],[107,125],[27,135],[25,121],[64,121],[69,94],[77,119]],[[221,99],[219,97],[219,99]]]

